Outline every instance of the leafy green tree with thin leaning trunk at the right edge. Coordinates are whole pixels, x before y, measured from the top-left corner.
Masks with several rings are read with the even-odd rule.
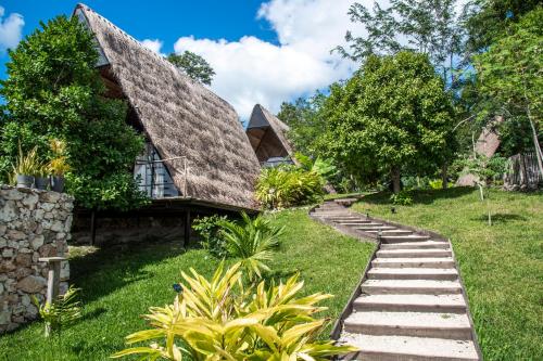
[[[506,117],[523,115],[532,130],[540,172],[543,154],[538,127],[543,114],[543,7],[526,14],[505,36],[475,57],[479,90],[489,112]]]

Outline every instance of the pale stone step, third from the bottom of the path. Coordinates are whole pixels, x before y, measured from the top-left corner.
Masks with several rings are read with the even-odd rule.
[[[455,295],[362,295],[356,311],[465,313],[466,301]]]

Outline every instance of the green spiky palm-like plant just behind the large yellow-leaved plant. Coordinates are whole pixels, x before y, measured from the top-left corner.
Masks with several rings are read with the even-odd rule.
[[[241,214],[240,222],[224,220],[219,225],[225,249],[230,257],[241,259],[240,265],[251,281],[260,280],[263,271],[269,271],[265,261],[273,258],[285,227],[274,227],[261,215],[251,219],[245,212]]]

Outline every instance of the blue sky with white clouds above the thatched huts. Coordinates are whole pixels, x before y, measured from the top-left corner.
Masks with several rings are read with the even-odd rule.
[[[148,48],[167,54],[191,50],[217,73],[211,88],[247,118],[255,103],[277,112],[282,101],[348,77],[353,64],[331,55],[345,30],[352,0],[94,0],[86,4]],[[5,48],[14,47],[76,2],[0,1],[0,76]]]

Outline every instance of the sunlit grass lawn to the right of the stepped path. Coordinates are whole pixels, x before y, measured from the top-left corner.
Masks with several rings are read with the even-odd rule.
[[[354,209],[451,238],[485,360],[543,360],[543,193],[492,190],[494,224],[475,189],[414,193],[413,206],[387,194]]]

